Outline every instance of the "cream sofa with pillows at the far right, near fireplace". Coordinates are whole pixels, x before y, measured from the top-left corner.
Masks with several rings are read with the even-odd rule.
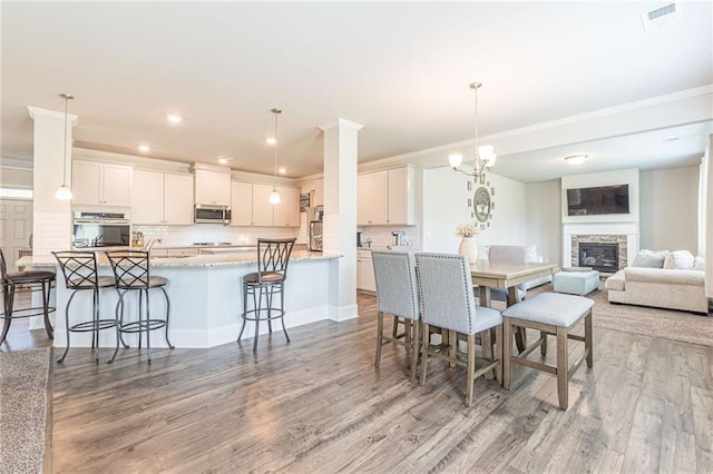
[[[649,255],[663,254],[663,251],[648,251]],[[638,266],[646,260],[646,258],[639,259],[639,254],[631,267],[606,279],[604,286],[608,290],[609,302],[707,314],[709,300],[705,296],[705,271],[703,270],[705,263],[701,257],[693,259],[690,253],[687,253],[691,255],[690,259],[667,256],[680,251],[666,251],[666,257],[662,259],[664,261],[662,267],[653,265],[652,261],[644,261],[646,266]],[[691,265],[691,260],[695,264]]]

